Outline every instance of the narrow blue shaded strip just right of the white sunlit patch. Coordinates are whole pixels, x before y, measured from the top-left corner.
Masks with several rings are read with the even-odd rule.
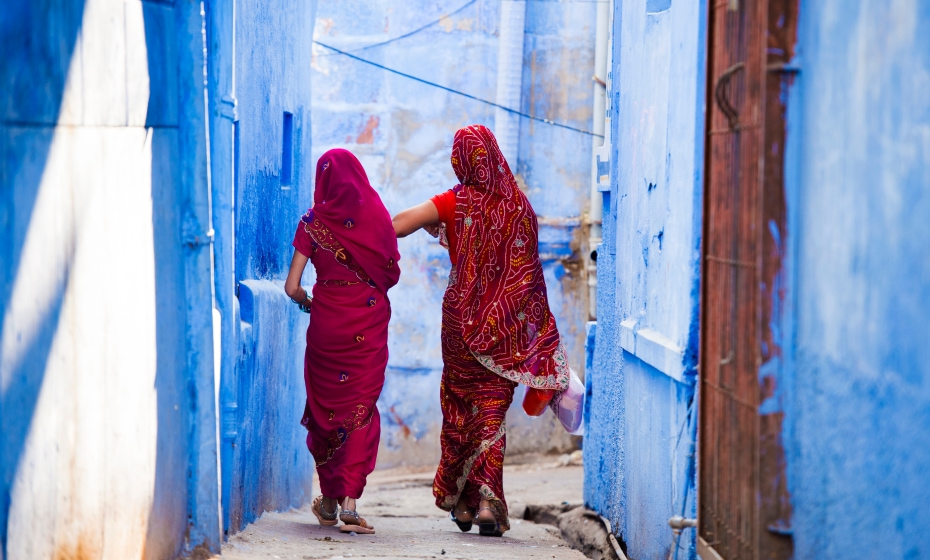
[[[152,149],[152,233],[155,255],[155,391],[158,437],[155,488],[146,531],[146,558],[181,553],[188,530],[186,301],[181,243],[183,200],[178,178],[178,44],[174,4],[144,2],[149,102],[145,127]]]

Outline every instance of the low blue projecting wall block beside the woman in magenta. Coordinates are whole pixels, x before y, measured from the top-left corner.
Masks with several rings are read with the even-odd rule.
[[[304,344],[309,316],[288,301],[280,282],[239,283],[242,331],[237,368],[240,423],[230,469],[229,532],[265,511],[300,507],[311,499],[313,458],[300,425]]]

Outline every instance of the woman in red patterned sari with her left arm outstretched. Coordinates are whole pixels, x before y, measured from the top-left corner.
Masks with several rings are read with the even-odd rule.
[[[462,531],[510,528],[504,498],[504,416],[517,383],[564,390],[569,368],[549,310],[536,214],[494,135],[455,133],[461,184],[394,217],[404,237],[438,235],[452,261],[442,302],[442,455],[433,495]]]

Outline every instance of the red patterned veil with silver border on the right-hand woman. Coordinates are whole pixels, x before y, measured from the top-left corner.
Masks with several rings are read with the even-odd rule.
[[[536,213],[488,128],[455,133],[452,168],[462,184],[449,248],[456,279],[444,305],[486,368],[537,389],[565,389],[569,368],[549,310]]]

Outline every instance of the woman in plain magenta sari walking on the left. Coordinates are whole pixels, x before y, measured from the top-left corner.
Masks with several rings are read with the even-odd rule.
[[[355,511],[374,470],[381,435],[376,403],[387,366],[387,291],[397,283],[391,217],[352,153],[329,150],[316,166],[313,207],[300,219],[284,289],[310,313],[301,420],[316,462],[321,525],[374,532]],[[307,260],[316,269],[313,297],[300,286]]]

